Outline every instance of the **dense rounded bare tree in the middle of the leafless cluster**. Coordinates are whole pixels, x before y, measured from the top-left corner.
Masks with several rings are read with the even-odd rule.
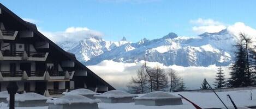
[[[168,78],[159,66],[156,66],[152,70],[152,86],[154,91],[166,91],[168,87]]]

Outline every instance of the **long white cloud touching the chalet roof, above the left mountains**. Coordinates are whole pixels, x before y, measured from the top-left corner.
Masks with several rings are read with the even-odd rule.
[[[90,36],[103,36],[96,30],[90,30],[87,27],[69,27],[65,31],[49,32],[39,28],[39,31],[53,42],[62,41],[80,41]]]

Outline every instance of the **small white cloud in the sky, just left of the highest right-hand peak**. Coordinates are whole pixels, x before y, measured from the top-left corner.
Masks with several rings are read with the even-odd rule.
[[[191,24],[195,25],[192,30],[197,34],[202,33],[217,33],[227,28],[223,23],[212,19],[198,18],[197,20],[190,20]]]

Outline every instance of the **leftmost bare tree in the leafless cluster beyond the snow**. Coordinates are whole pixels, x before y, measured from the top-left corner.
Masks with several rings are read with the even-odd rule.
[[[145,73],[144,66],[137,70],[135,78],[132,77],[128,87],[130,93],[146,93],[148,91],[148,75]]]

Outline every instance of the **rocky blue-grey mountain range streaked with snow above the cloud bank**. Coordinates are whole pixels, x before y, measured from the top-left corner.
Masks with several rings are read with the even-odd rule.
[[[85,65],[97,65],[103,60],[133,63],[140,60],[163,63],[166,66],[227,66],[234,56],[236,36],[227,29],[218,33],[204,33],[196,37],[169,33],[160,39],[142,39],[139,42],[105,41],[91,36],[79,42],[57,43],[74,53]]]

